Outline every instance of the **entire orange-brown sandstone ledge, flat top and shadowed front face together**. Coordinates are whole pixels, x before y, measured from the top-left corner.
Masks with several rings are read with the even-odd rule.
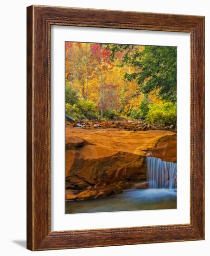
[[[154,154],[156,147],[162,150],[164,138],[169,140],[174,135],[164,130],[66,128],[66,199],[83,200],[120,194],[122,189],[147,188],[147,152]],[[175,137],[169,141],[176,141]]]

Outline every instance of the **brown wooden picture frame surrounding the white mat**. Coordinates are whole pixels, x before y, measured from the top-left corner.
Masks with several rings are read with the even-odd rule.
[[[51,231],[51,25],[190,33],[190,224]],[[69,7],[27,7],[27,249],[68,249],[203,239],[204,17]]]

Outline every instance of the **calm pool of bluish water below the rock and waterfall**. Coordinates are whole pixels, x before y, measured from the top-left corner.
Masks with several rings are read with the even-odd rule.
[[[115,212],[134,210],[176,209],[176,189],[127,189],[120,195],[66,201],[65,213]]]

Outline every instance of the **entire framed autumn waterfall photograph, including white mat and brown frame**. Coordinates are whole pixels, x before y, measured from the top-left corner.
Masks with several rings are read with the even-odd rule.
[[[204,17],[27,7],[27,248],[204,239]]]

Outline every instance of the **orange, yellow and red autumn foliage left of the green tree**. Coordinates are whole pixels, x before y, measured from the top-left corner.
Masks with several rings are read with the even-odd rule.
[[[142,50],[139,46],[139,50]],[[125,81],[125,74],[134,72],[132,66],[121,66],[123,52],[110,59],[110,51],[96,43],[65,43],[65,78],[79,99],[92,101],[101,115],[107,109],[127,115],[138,110],[143,95],[136,81]],[[149,99],[158,103],[155,92]]]

